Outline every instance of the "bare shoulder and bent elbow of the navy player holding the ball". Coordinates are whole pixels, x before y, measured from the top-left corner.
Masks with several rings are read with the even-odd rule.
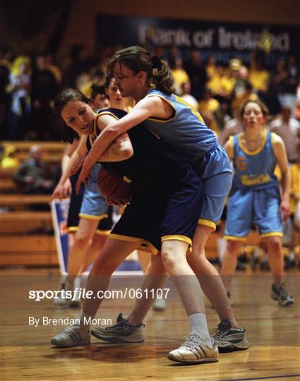
[[[103,114],[97,118],[97,126],[100,131],[114,123],[116,119],[112,115]],[[94,143],[95,144],[95,143]],[[98,162],[121,162],[133,155],[133,147],[127,133],[116,138],[102,155],[97,158]]]

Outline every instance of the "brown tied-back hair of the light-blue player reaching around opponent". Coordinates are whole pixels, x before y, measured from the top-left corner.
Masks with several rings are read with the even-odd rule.
[[[107,60],[107,71],[112,75],[114,66],[122,63],[128,66],[133,73],[145,71],[149,83],[155,85],[158,90],[164,94],[170,95],[175,91],[174,78],[167,66],[167,63],[157,56],[151,56],[150,53],[142,47],[128,47],[118,50],[110,59]]]

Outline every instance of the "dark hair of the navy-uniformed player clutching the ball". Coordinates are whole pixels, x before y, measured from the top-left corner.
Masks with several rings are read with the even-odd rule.
[[[59,94],[56,95],[54,99],[54,111],[56,113],[58,122],[56,128],[59,130],[59,133],[61,133],[61,138],[64,140],[64,142],[68,143],[73,143],[74,140],[79,140],[80,136],[61,118],[61,110],[64,109],[68,102],[76,100],[85,102],[87,104],[90,103],[90,99],[85,97],[82,92],[71,88],[61,90],[61,92],[59,92]]]

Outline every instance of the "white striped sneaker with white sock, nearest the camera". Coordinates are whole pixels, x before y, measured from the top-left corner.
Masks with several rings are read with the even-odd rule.
[[[186,337],[186,341],[169,353],[169,360],[178,363],[213,363],[219,360],[219,351],[215,341],[207,345],[199,334],[191,333]]]

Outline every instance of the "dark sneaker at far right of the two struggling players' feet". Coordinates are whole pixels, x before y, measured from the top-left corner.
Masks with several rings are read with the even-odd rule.
[[[215,330],[215,339],[217,347],[220,351],[231,352],[247,349],[249,346],[248,340],[245,337],[246,329],[243,327],[236,329],[232,328],[232,322],[230,320],[223,320],[217,326]]]

